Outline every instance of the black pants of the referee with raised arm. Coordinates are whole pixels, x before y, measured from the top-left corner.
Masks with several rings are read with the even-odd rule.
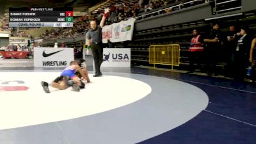
[[[103,60],[102,44],[92,44],[92,54],[94,60],[95,74],[100,74],[100,65]]]

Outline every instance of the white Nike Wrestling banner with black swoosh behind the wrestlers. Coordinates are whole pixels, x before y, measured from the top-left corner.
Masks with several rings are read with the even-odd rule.
[[[67,67],[74,61],[73,48],[34,48],[34,67]]]

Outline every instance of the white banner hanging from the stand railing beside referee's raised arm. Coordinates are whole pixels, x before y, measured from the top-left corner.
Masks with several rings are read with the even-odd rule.
[[[134,22],[136,19],[131,18],[126,21],[121,21],[109,26],[104,26],[102,28],[102,42],[124,42],[127,40],[132,40]]]

